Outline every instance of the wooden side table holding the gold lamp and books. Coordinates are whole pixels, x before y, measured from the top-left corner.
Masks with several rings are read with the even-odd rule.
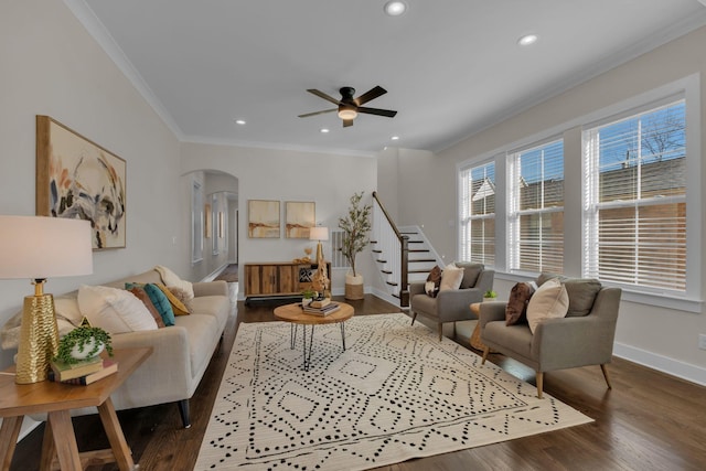
[[[116,350],[114,358],[118,362],[118,372],[88,386],[49,381],[15,384],[12,374],[14,367],[6,370],[6,374],[0,375],[0,469],[10,469],[24,416],[41,413],[47,414],[40,461],[42,471],[52,469],[52,461],[56,456],[62,470],[79,471],[88,462],[117,462],[120,471],[139,469],[132,461],[132,453],[122,435],[110,394],[120,387],[151,353],[151,347]],[[110,449],[79,453],[69,410],[93,406],[98,408]]]

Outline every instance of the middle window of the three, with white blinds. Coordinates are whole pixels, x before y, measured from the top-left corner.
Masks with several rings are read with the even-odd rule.
[[[507,181],[510,270],[564,272],[564,141],[510,154]]]

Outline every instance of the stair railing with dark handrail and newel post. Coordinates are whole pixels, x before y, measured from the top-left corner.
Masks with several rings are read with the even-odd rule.
[[[409,306],[409,236],[400,234],[399,229],[389,217],[389,214],[373,192],[373,240],[375,243],[374,254],[378,254],[378,263],[386,275],[386,282],[399,298],[399,306]],[[381,259],[379,256],[384,259]]]

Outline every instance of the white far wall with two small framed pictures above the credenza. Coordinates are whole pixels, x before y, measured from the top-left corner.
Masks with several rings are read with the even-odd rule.
[[[356,156],[333,156],[315,152],[292,152],[259,148],[240,148],[185,142],[181,146],[182,170],[216,170],[238,180],[238,264],[243,286],[243,265],[260,261],[289,261],[304,256],[306,247],[315,243],[285,237],[285,202],[313,201],[317,203],[317,223],[336,228],[339,217],[345,215],[350,196],[365,192],[370,202],[377,183],[377,161]],[[280,202],[282,231],[280,238],[249,238],[247,236],[247,201],[277,200]],[[331,246],[324,243],[324,251]],[[314,254],[315,256],[315,250]],[[373,270],[372,257],[366,250],[357,263],[366,285],[374,283],[378,275]],[[344,270],[332,274],[332,290],[343,292]],[[244,289],[239,297],[243,297]]]

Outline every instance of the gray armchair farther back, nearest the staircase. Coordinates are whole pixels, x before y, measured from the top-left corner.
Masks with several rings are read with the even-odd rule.
[[[456,290],[439,291],[436,298],[428,296],[422,282],[409,283],[411,323],[415,323],[417,314],[437,322],[439,341],[443,338],[445,322],[453,322],[456,334],[456,321],[475,319],[471,313],[470,304],[481,302],[483,293],[493,288],[494,270],[486,270],[482,264],[457,261],[457,267],[463,268],[461,287]]]

